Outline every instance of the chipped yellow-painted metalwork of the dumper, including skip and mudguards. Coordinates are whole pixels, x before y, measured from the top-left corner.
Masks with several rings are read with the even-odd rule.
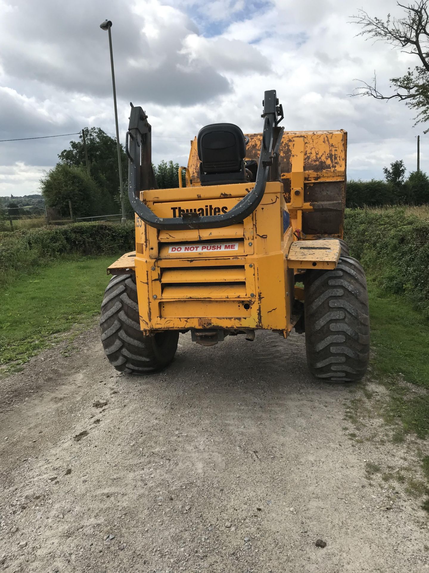
[[[250,134],[247,159],[259,159],[261,134]],[[268,182],[256,210],[243,222],[216,229],[165,231],[136,215],[136,252],[108,269],[135,270],[142,331],[188,328],[273,329],[291,332],[304,289],[295,274],[333,269],[340,244],[345,198],[347,134],[285,132],[280,146],[281,181]],[[191,142],[186,187],[141,191],[160,217],[178,209],[230,210],[254,183],[201,186],[197,139]],[[283,229],[283,211],[291,225]],[[329,229],[329,230],[328,230]],[[316,239],[322,239],[317,240]],[[172,250],[180,245],[237,244],[233,251]]]

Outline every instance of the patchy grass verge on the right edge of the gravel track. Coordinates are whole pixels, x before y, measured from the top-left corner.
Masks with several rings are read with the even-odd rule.
[[[374,382],[383,384],[387,393],[385,398],[374,401],[369,388],[361,387],[360,397],[349,401],[347,419],[355,424],[356,430],[363,430],[363,419],[381,415],[386,428],[390,429],[386,435],[388,442],[411,444],[412,452],[422,464],[417,472],[421,479],[412,470],[409,475],[398,471],[392,473],[389,466],[387,470],[382,469],[374,462],[367,463],[366,475],[369,480],[378,474],[384,483],[404,483],[410,496],[424,497],[422,508],[429,512],[429,456],[424,456],[422,451],[424,442],[416,440],[416,436],[422,440],[429,437],[428,320],[406,297],[387,293],[371,277],[368,277],[368,294],[372,377]],[[349,437],[358,444],[364,442],[364,434],[365,431],[359,431],[356,439],[356,433]],[[365,439],[386,444],[379,430]]]

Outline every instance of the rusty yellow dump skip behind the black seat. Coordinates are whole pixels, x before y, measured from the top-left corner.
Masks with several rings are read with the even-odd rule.
[[[246,159],[259,159],[262,134],[249,134]],[[343,237],[347,132],[289,131],[279,150],[283,191],[294,229],[307,238]],[[197,139],[191,142],[188,168],[192,186],[200,185]],[[291,190],[304,188],[303,197]],[[298,211],[301,211],[301,215]]]

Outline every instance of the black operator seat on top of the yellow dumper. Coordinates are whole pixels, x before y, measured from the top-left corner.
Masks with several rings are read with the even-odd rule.
[[[212,123],[201,128],[197,150],[201,162],[201,185],[245,183],[249,180],[244,165],[246,142],[238,125]]]

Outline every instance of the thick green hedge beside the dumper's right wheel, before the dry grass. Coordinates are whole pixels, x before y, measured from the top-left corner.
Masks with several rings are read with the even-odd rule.
[[[429,221],[400,207],[383,213],[346,209],[344,234],[376,284],[406,295],[429,317]]]

